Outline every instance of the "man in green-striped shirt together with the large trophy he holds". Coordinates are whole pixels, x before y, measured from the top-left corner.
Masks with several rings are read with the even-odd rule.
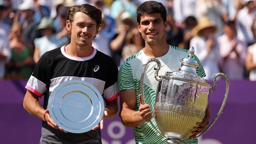
[[[197,144],[194,137],[208,126],[208,94],[215,90],[215,81],[211,87],[203,79],[206,75],[193,48],[188,52],[167,44],[166,9],[161,3],[141,4],[137,27],[145,48],[119,70],[122,123],[134,127],[136,144]],[[224,74],[218,76],[229,83]],[[227,92],[225,102],[226,96]]]

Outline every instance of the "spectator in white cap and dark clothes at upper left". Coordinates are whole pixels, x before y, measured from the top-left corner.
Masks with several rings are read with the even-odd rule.
[[[36,31],[38,23],[33,20],[34,4],[31,0],[24,0],[24,2],[18,6],[18,9],[21,11],[20,19],[22,21],[22,35],[24,41],[33,44],[34,39],[40,36]]]

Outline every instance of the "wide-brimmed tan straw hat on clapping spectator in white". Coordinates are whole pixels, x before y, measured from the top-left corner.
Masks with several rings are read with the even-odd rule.
[[[217,30],[217,27],[211,23],[208,17],[202,17],[198,20],[197,26],[193,28],[192,32],[194,35],[199,35],[201,30],[204,30],[205,28],[213,28],[213,31],[215,32]]]

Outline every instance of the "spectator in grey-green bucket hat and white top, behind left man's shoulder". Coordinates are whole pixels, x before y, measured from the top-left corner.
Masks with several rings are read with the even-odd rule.
[[[53,19],[43,17],[40,24],[37,26],[37,30],[41,32],[43,37],[36,38],[34,41],[35,52],[33,59],[35,63],[37,63],[41,55],[43,55],[45,52],[58,48],[63,44],[62,39],[56,38]]]

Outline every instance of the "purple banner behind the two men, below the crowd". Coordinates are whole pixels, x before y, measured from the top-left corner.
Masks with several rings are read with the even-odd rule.
[[[210,83],[212,85],[212,83]],[[0,81],[0,139],[2,144],[37,144],[41,137],[41,120],[27,113],[23,106],[26,80]],[[256,129],[256,82],[231,81],[223,114],[202,137],[199,144],[249,144]],[[210,94],[211,120],[219,111],[225,93],[225,82],[217,81]],[[40,101],[42,101],[41,98]],[[118,116],[104,119],[103,144],[134,144],[132,128],[125,127]]]

